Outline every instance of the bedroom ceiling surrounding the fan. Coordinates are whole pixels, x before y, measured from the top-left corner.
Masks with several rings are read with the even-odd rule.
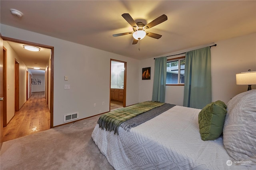
[[[10,8],[24,16],[13,16]],[[162,37],[146,36],[136,45],[132,45],[132,35],[113,37],[112,34],[132,31],[121,16],[124,13],[144,24],[165,14],[167,21],[148,29]],[[135,59],[256,32],[256,1],[1,0],[0,16],[0,22],[6,25]]]

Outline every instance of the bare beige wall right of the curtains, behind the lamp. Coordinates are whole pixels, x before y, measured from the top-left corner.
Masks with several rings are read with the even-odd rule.
[[[256,71],[256,33],[217,42],[212,54],[212,100],[227,103],[248,86],[236,85],[236,73]],[[252,86],[253,89],[256,85]]]

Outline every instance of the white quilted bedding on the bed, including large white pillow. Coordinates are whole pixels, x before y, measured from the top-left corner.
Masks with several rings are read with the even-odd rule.
[[[244,101],[244,98],[247,100]],[[252,102],[248,102],[249,100]],[[243,102],[242,104],[237,104],[237,101]],[[244,102],[251,104],[244,106]],[[239,94],[232,99],[232,102],[230,100],[227,104],[230,109],[227,108],[226,119],[224,118],[223,135],[220,135],[215,140],[202,140],[198,128],[198,115],[203,109],[183,106],[173,106],[167,111],[128,130],[119,126],[117,127],[117,132],[109,131],[97,124],[92,132],[92,139],[116,170],[256,169],[256,152],[254,151],[256,146],[255,103],[256,90],[252,90],[251,93]],[[242,144],[242,147],[239,146],[241,145],[240,141],[237,142],[238,144],[232,143],[232,147],[230,147],[225,144],[225,141],[232,140],[234,142],[234,139],[225,139],[226,134],[224,132],[227,131],[229,135],[232,134],[233,130],[228,129],[229,124],[227,123],[235,119],[229,111],[237,112],[238,109],[236,107],[240,105],[252,107],[249,109],[249,112],[252,112],[253,115],[253,117],[250,115],[251,124],[253,125],[249,127],[252,135],[247,134],[250,136],[250,142],[247,142],[247,139],[243,139],[246,141]],[[231,127],[234,127],[234,124]],[[241,129],[241,127],[240,123],[239,128]],[[237,129],[236,132],[239,133]],[[234,151],[232,148],[234,147],[239,147],[240,149],[249,147],[250,153],[246,153],[248,157],[236,158],[232,154],[232,151]]]

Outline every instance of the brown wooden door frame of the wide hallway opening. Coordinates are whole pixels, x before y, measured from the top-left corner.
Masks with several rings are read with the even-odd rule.
[[[51,72],[50,72],[50,128],[54,127],[53,126],[53,94],[54,94],[54,47],[50,46],[50,45],[44,45],[44,44],[39,44],[39,43],[33,43],[33,42],[29,42],[29,41],[24,41],[24,40],[20,40],[20,39],[14,39],[14,38],[10,38],[10,37],[3,37],[1,36],[1,38],[4,41],[12,41],[15,43],[22,43],[22,44],[27,44],[27,45],[32,45],[32,46],[37,46],[37,47],[42,47],[42,48],[46,48],[46,49],[50,49],[51,50],[51,54],[50,54],[50,64],[51,64]],[[2,44],[1,44],[2,46]],[[2,52],[1,52],[2,53]],[[2,135],[2,134],[1,134]]]

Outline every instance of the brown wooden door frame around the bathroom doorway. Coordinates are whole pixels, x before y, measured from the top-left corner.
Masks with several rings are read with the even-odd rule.
[[[111,89],[111,61],[116,61],[119,63],[124,63],[124,100],[123,100],[123,107],[126,107],[126,73],[127,73],[127,62],[126,61],[120,61],[116,59],[110,59],[110,85],[109,89]],[[111,102],[111,90],[109,93],[109,110],[110,110],[110,102]]]

